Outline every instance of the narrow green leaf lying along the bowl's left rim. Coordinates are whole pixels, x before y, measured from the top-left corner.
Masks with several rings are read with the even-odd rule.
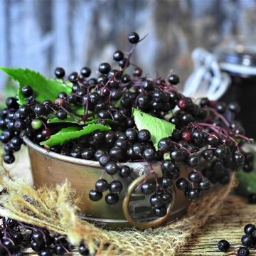
[[[90,134],[91,132],[95,132],[96,130],[100,131],[109,131],[111,128],[102,124],[88,124],[87,126],[81,127],[67,127],[60,130],[56,134],[50,136],[45,142],[41,142],[41,145],[47,146],[55,146],[58,144],[63,144],[63,142],[67,142],[70,139],[76,139],[85,134]]]

